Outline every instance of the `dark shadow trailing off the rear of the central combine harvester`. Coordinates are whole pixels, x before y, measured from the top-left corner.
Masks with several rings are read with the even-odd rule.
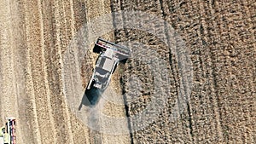
[[[91,89],[85,89],[82,101],[79,106],[79,111],[84,106],[94,107],[102,96],[102,90],[92,87]]]

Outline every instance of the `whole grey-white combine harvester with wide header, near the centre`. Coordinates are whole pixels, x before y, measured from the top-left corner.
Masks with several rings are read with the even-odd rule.
[[[110,78],[119,65],[119,62],[125,63],[131,55],[131,50],[115,43],[108,42],[98,38],[93,52],[100,54],[96,60],[96,67],[87,89],[94,87],[96,89],[106,89]]]

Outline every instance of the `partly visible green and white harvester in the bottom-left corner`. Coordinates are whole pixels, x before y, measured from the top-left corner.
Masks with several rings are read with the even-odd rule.
[[[15,123],[15,118],[7,118],[0,131],[0,144],[16,144]]]

